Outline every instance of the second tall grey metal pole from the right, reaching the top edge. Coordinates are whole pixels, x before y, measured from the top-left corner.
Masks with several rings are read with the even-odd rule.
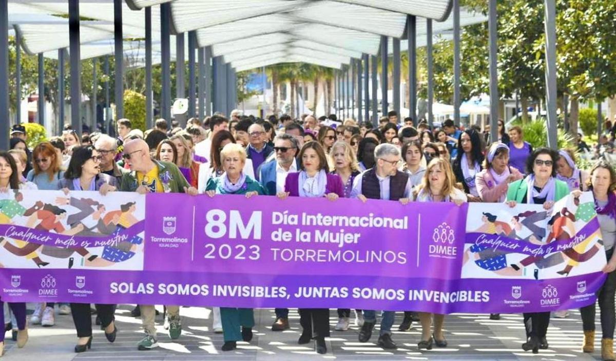
[[[488,28],[490,30],[490,139],[498,140],[498,72],[496,68],[497,33],[496,0],[490,0]]]

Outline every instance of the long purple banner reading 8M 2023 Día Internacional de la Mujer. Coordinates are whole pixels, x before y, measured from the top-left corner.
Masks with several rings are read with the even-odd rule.
[[[4,301],[551,311],[606,264],[591,193],[541,206],[0,194]]]

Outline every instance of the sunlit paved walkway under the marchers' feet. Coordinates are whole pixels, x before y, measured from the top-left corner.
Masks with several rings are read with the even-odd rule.
[[[29,307],[30,308],[30,307]],[[30,329],[30,341],[24,349],[17,349],[15,343],[6,341],[3,361],[45,360],[45,361],[86,361],[86,360],[594,360],[600,359],[599,344],[593,355],[580,351],[582,343],[582,321],[578,311],[572,311],[567,319],[553,319],[548,331],[549,350],[540,354],[521,350],[524,342],[524,327],[519,314],[502,315],[501,320],[490,320],[488,315],[453,314],[445,319],[445,336],[449,346],[435,347],[431,351],[419,351],[417,342],[418,326],[408,332],[394,331],[393,339],[399,345],[395,351],[386,351],[376,346],[378,331],[369,343],[357,341],[358,329],[352,327],[346,332],[332,331],[326,339],[328,354],[318,355],[312,344],[299,346],[297,339],[299,315],[291,311],[291,329],[272,332],[269,328],[274,321],[273,309],[255,312],[256,327],[253,341],[238,343],[233,352],[222,352],[222,335],[211,331],[211,312],[199,307],[182,307],[182,337],[172,342],[162,325],[158,327],[160,347],[151,351],[137,351],[137,341],[142,337],[140,319],[130,317],[128,305],[120,306],[116,312],[118,338],[108,344],[103,331],[94,331],[92,349],[83,354],[73,353],[76,333],[70,315],[57,315],[56,325],[51,328],[34,326]],[[598,317],[599,317],[599,312]],[[331,329],[337,322],[336,311],[330,314]],[[161,317],[157,318],[162,322]],[[395,329],[402,320],[396,316]],[[377,325],[378,328],[378,325]],[[601,327],[598,323],[598,329]]]

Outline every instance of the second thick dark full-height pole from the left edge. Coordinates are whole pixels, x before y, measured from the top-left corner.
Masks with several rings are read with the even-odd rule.
[[[71,61],[71,127],[81,137],[81,55],[79,0],[68,1],[68,37]]]

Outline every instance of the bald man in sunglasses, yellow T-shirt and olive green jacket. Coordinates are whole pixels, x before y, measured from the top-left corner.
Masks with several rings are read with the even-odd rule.
[[[149,147],[144,140],[130,140],[124,144],[124,161],[131,172],[124,174],[120,183],[120,191],[138,192],[170,192],[197,195],[197,188],[190,186],[177,165],[169,162],[155,161],[150,157]],[[153,305],[140,304],[141,321],[145,337],[137,344],[140,351],[158,347],[154,317],[156,310]],[[179,306],[167,306],[169,320],[169,337],[179,338],[182,333]]]

